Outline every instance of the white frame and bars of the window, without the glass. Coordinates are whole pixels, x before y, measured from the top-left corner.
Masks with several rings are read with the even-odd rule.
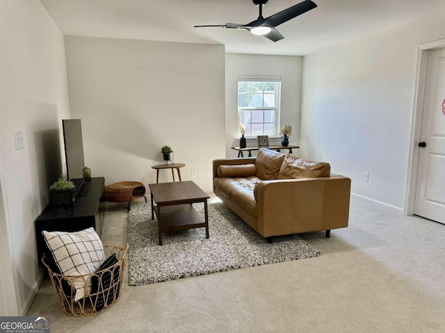
[[[277,90],[275,90],[275,107],[239,107],[238,106],[238,124],[241,123],[241,111],[258,111],[258,110],[274,110],[275,111],[275,126],[273,135],[269,135],[268,133],[259,133],[258,135],[269,135],[269,137],[279,137],[280,131],[280,110],[281,110],[281,76],[271,76],[271,75],[238,75],[237,89],[240,82],[275,82],[280,83],[277,85]],[[236,94],[237,105],[239,105],[238,101],[238,91]],[[266,122],[263,122],[263,124]],[[252,124],[252,119],[250,119],[250,124]],[[263,127],[264,128],[264,127]],[[246,133],[245,137],[247,138],[256,138],[257,135],[248,135]]]

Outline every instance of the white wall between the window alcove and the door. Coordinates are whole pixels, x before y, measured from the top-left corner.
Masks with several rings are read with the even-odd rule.
[[[302,154],[352,178],[353,193],[403,207],[417,46],[445,38],[444,14],[305,57]]]

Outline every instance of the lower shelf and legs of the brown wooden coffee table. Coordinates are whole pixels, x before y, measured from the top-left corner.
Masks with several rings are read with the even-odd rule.
[[[169,206],[155,205],[154,208],[158,219],[159,245],[162,245],[162,232],[206,228],[206,238],[209,238],[209,222],[202,221],[202,217],[190,203]]]

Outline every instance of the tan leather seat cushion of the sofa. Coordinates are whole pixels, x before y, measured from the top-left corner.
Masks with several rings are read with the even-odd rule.
[[[240,206],[243,210],[257,218],[258,205],[253,194],[257,182],[261,182],[261,178],[256,176],[246,178],[215,178],[213,185],[226,196],[229,196],[234,205]]]

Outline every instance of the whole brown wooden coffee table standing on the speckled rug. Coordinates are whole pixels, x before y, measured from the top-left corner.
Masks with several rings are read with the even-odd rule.
[[[206,228],[206,238],[209,238],[207,199],[210,196],[200,187],[191,181],[163,182],[148,187],[152,198],[152,220],[155,211],[158,218],[159,245],[162,245],[163,232]],[[204,203],[204,221],[192,203]]]

